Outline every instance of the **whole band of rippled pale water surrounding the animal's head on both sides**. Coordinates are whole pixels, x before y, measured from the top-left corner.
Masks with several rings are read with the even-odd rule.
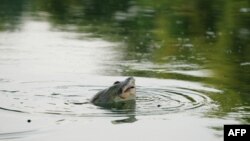
[[[189,86],[189,85],[188,85]],[[19,113],[36,113],[77,117],[124,115],[162,115],[194,109],[206,109],[211,100],[198,89],[179,86],[137,86],[136,104],[123,109],[104,109],[90,99],[104,85],[77,85],[72,82],[22,82],[19,89],[0,90],[0,109]],[[195,87],[193,87],[195,88]]]

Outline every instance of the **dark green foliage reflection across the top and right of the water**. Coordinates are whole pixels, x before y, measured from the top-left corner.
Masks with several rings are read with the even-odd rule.
[[[209,94],[216,116],[249,113],[250,2],[248,0],[1,0],[0,31],[18,29],[25,16],[58,30],[90,32],[123,42],[115,75],[202,82],[224,91]],[[74,28],[72,28],[74,27]],[[127,62],[127,63],[124,63]],[[131,65],[134,64],[134,65]],[[151,64],[148,67],[145,64]],[[142,64],[138,69],[135,67]],[[184,65],[184,66],[183,66]],[[211,76],[187,75],[210,70]],[[183,73],[177,73],[182,71]],[[113,75],[113,71],[107,74]],[[249,116],[241,117],[249,122]]]

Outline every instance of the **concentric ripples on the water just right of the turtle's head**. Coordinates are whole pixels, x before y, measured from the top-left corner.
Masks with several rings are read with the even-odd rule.
[[[181,112],[211,104],[202,93],[183,88],[143,88],[138,91],[137,113],[156,115]]]

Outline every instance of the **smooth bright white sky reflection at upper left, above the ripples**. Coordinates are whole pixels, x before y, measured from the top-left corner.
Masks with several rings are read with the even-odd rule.
[[[0,42],[3,43],[0,48],[0,62],[5,75],[17,74],[17,66],[8,65],[6,62],[18,64],[19,72],[22,73],[88,74],[98,71],[99,68],[103,69],[103,62],[115,57],[112,55],[112,49],[107,48],[116,46],[115,43],[98,38],[90,39],[88,34],[84,33],[50,32],[49,29],[50,25],[46,22],[26,20],[20,32],[6,32],[0,35]],[[78,36],[84,39],[75,40]],[[81,60],[81,63],[78,60]]]

